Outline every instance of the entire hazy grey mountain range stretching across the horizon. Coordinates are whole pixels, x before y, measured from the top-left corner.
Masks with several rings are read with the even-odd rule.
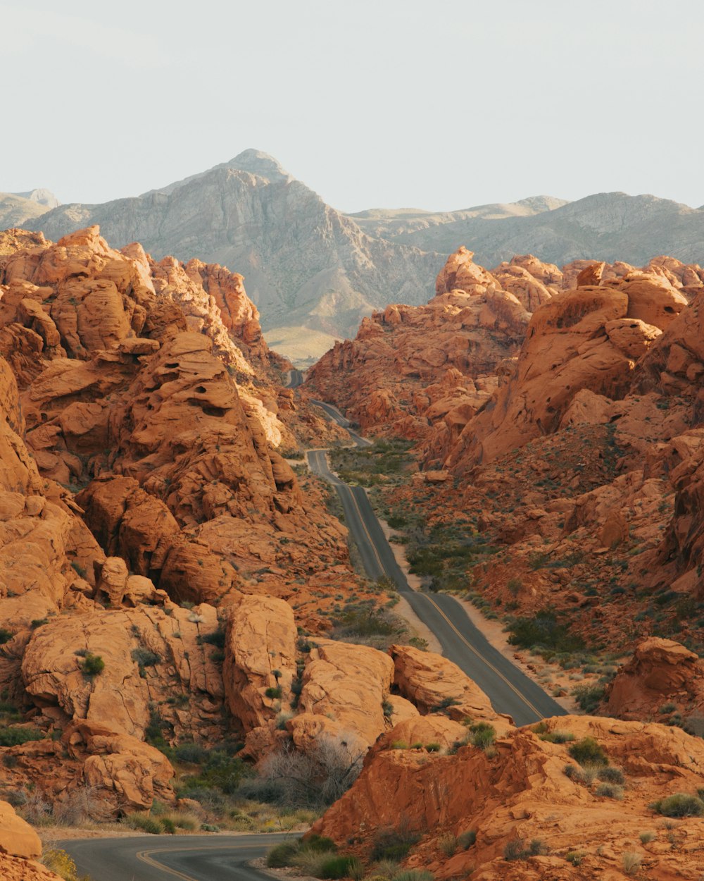
[[[299,364],[354,336],[375,308],[429,300],[460,245],[488,268],[527,252],[558,265],[591,257],[641,265],[665,253],[704,262],[704,209],[655,196],[533,196],[462,211],[347,215],[255,150],[105,204],[57,205],[47,190],[0,194],[0,228],[26,226],[55,240],[91,224],[114,247],[141,241],[155,258],[199,257],[241,272],[268,343]]]

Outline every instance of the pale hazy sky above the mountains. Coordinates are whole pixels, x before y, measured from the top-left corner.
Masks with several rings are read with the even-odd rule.
[[[700,0],[0,0],[0,190],[271,153],[343,211],[704,203]]]

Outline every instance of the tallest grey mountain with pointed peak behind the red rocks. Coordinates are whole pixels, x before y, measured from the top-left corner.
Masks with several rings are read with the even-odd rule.
[[[56,239],[92,224],[117,247],[141,241],[157,259],[199,256],[237,266],[266,315],[270,344],[299,360],[354,333],[374,308],[425,300],[443,263],[439,255],[363,233],[275,159],[253,150],[143,196],[62,205],[29,226]]]

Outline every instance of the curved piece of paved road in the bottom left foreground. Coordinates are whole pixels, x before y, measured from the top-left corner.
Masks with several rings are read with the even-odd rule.
[[[136,835],[57,841],[94,881],[271,881],[246,863],[290,833],[269,835]]]

